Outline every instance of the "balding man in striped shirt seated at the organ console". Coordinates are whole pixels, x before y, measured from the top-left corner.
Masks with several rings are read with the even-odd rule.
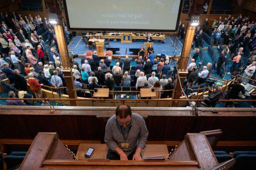
[[[109,147],[110,160],[142,160],[141,150],[148,138],[148,130],[142,116],[131,113],[131,107],[121,105],[116,115],[108,120],[105,143]]]

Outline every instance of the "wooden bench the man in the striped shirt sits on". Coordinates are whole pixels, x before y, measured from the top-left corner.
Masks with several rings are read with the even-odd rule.
[[[79,144],[76,157],[79,160],[85,160],[85,153],[89,147],[94,148],[90,158],[93,159],[106,159],[108,147],[106,144]],[[146,144],[145,148],[141,151],[142,156],[167,156],[168,148],[166,144]]]

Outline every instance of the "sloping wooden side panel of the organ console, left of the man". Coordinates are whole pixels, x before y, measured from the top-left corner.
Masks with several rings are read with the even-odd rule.
[[[56,137],[56,133],[38,133],[20,165],[20,170],[39,170]]]

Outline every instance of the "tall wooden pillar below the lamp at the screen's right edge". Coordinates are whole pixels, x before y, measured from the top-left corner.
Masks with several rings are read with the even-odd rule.
[[[183,82],[186,79],[186,75],[188,73],[186,71],[186,68],[189,62],[189,55],[190,55],[190,50],[191,50],[194,35],[195,35],[195,27],[190,26],[190,23],[188,23],[180,59],[177,61],[177,64],[176,64],[177,71],[180,75],[180,80],[178,79],[178,77],[176,77],[176,81],[174,84],[175,88],[172,93],[172,99],[180,99],[180,96],[182,94],[180,84],[181,86],[183,86]],[[177,106],[178,106],[177,101],[172,102],[172,107],[177,107]]]

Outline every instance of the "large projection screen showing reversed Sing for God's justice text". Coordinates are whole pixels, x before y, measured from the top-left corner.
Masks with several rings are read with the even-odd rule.
[[[183,0],[64,0],[71,30],[177,30]]]

